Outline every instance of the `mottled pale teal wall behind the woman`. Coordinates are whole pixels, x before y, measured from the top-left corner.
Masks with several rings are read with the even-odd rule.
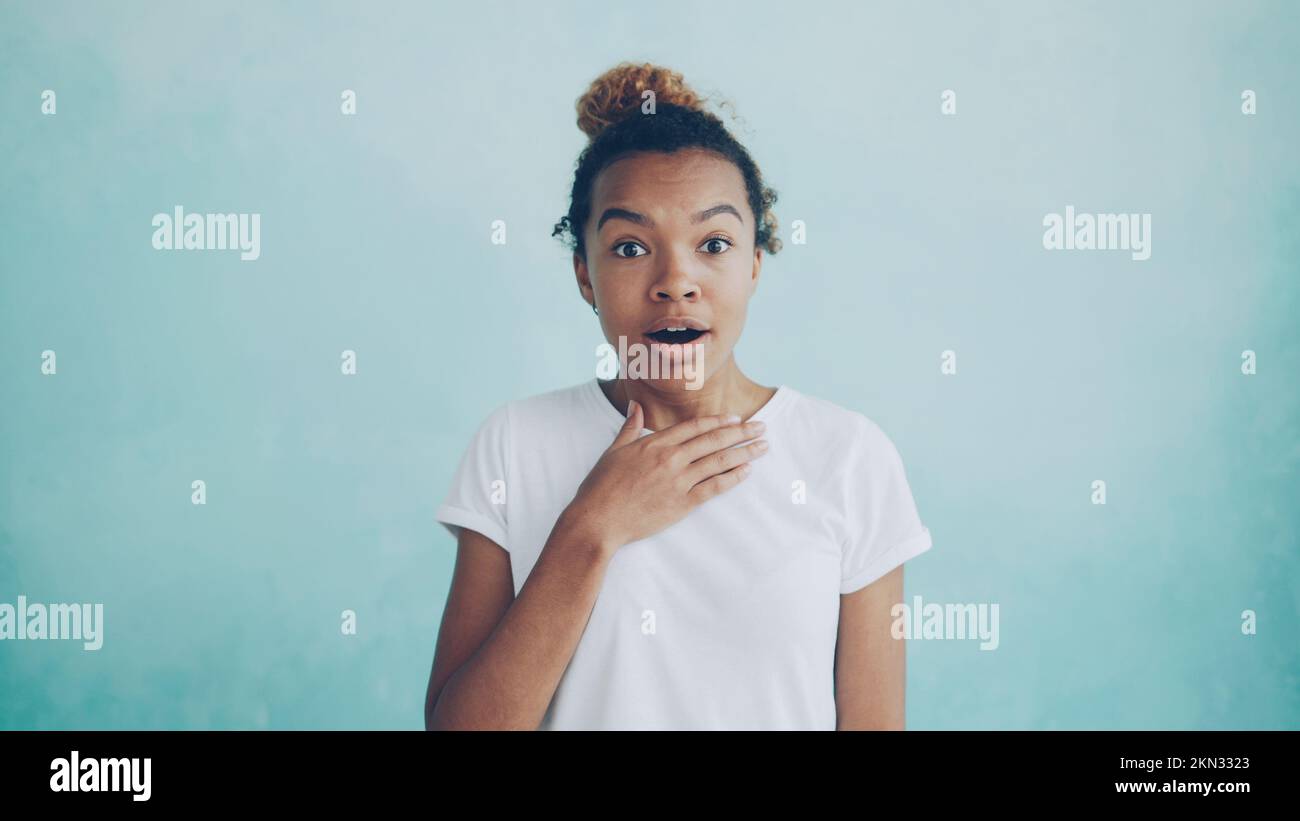
[[[997,651],[910,643],[909,726],[1300,727],[1297,42],[1295,3],[4,3],[0,601],[105,640],[0,643],[0,727],[422,726],[456,460],[594,375],[550,229],[625,58],[729,99],[809,226],[741,366],[898,446],[909,601],[1000,605]],[[153,251],[177,204],[261,259]],[[1150,260],[1044,251],[1067,204],[1152,213]]]

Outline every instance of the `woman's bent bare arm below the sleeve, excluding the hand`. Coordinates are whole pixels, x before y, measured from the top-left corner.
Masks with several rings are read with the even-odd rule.
[[[560,517],[516,599],[510,555],[463,529],[425,727],[536,730],[582,638],[614,549]]]

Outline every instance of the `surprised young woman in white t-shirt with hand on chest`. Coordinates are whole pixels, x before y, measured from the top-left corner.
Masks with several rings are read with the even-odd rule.
[[[732,353],[775,194],[676,73],[619,65],[577,108],[555,233],[610,346],[663,366],[480,426],[437,512],[458,552],[425,725],[902,729],[890,608],[931,538],[898,452]]]

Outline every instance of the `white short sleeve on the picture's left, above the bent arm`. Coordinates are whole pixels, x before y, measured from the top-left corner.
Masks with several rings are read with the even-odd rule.
[[[434,518],[454,538],[468,527],[510,549],[506,520],[506,466],[510,464],[510,405],[493,410],[460,457],[451,490]]]

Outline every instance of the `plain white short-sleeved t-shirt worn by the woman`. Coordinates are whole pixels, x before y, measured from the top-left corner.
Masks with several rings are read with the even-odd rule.
[[[770,447],[750,475],[610,560],[541,729],[835,729],[840,595],[930,530],[866,416],[781,386],[751,418]],[[624,421],[594,378],[500,405],[437,520],[506,548],[517,595]]]

